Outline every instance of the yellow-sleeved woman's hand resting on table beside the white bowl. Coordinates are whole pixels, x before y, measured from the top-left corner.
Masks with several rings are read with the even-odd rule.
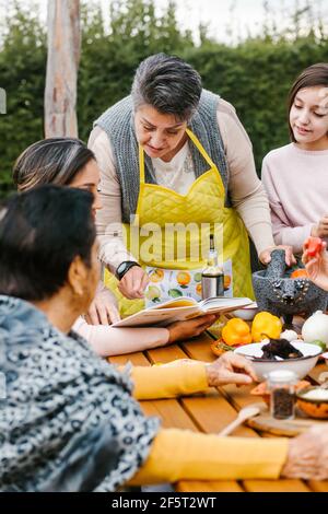
[[[249,385],[257,381],[251,363],[233,351],[227,351],[212,364],[207,364],[207,374],[210,387]]]

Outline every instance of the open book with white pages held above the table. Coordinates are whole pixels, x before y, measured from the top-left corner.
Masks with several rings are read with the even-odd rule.
[[[165,327],[173,322],[183,322],[203,314],[229,313],[251,303],[253,300],[246,297],[213,297],[197,302],[194,299],[181,296],[132,314],[120,322],[114,323],[113,327]]]

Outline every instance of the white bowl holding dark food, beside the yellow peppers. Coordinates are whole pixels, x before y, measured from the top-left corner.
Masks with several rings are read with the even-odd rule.
[[[320,353],[323,353],[323,350],[316,344],[302,341],[292,341],[291,344],[300,350],[304,357],[300,357],[298,359],[285,359],[281,361],[254,361],[254,357],[262,357],[263,352],[261,348],[267,343],[268,342],[254,342],[250,344],[244,344],[234,350],[235,353],[238,353],[239,355],[243,355],[246,359],[253,361],[253,367],[260,382],[267,378],[266,375],[268,375],[268,373],[276,370],[293,371],[297,378],[302,379],[316,365]]]

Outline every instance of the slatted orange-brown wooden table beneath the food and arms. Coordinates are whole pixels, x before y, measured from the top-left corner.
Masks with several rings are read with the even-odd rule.
[[[128,361],[134,365],[149,366],[155,363],[166,363],[176,359],[197,359],[211,362],[215,359],[210,350],[211,337],[208,334],[179,344],[130,353],[110,358],[110,362],[125,364]],[[311,373],[311,378],[317,382],[318,375],[327,371],[326,364],[318,364]],[[163,428],[188,429],[195,432],[216,433],[236,418],[236,411],[255,397],[249,394],[254,386],[224,386],[218,389],[209,388],[204,394],[198,394],[177,399],[141,401],[147,416],[157,416],[162,419]],[[242,425],[233,433],[235,436],[260,437],[255,430]],[[328,481],[303,480],[220,480],[220,481],[179,481],[175,484],[178,492],[328,492]]]

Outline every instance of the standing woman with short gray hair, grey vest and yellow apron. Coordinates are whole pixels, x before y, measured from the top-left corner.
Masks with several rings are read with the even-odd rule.
[[[89,145],[102,172],[99,255],[113,273],[106,283],[118,280],[121,314],[144,299],[199,300],[210,234],[225,294],[253,296],[247,232],[267,264],[269,205],[235,109],[190,65],[165,54],[143,60],[131,95],[95,121]]]

